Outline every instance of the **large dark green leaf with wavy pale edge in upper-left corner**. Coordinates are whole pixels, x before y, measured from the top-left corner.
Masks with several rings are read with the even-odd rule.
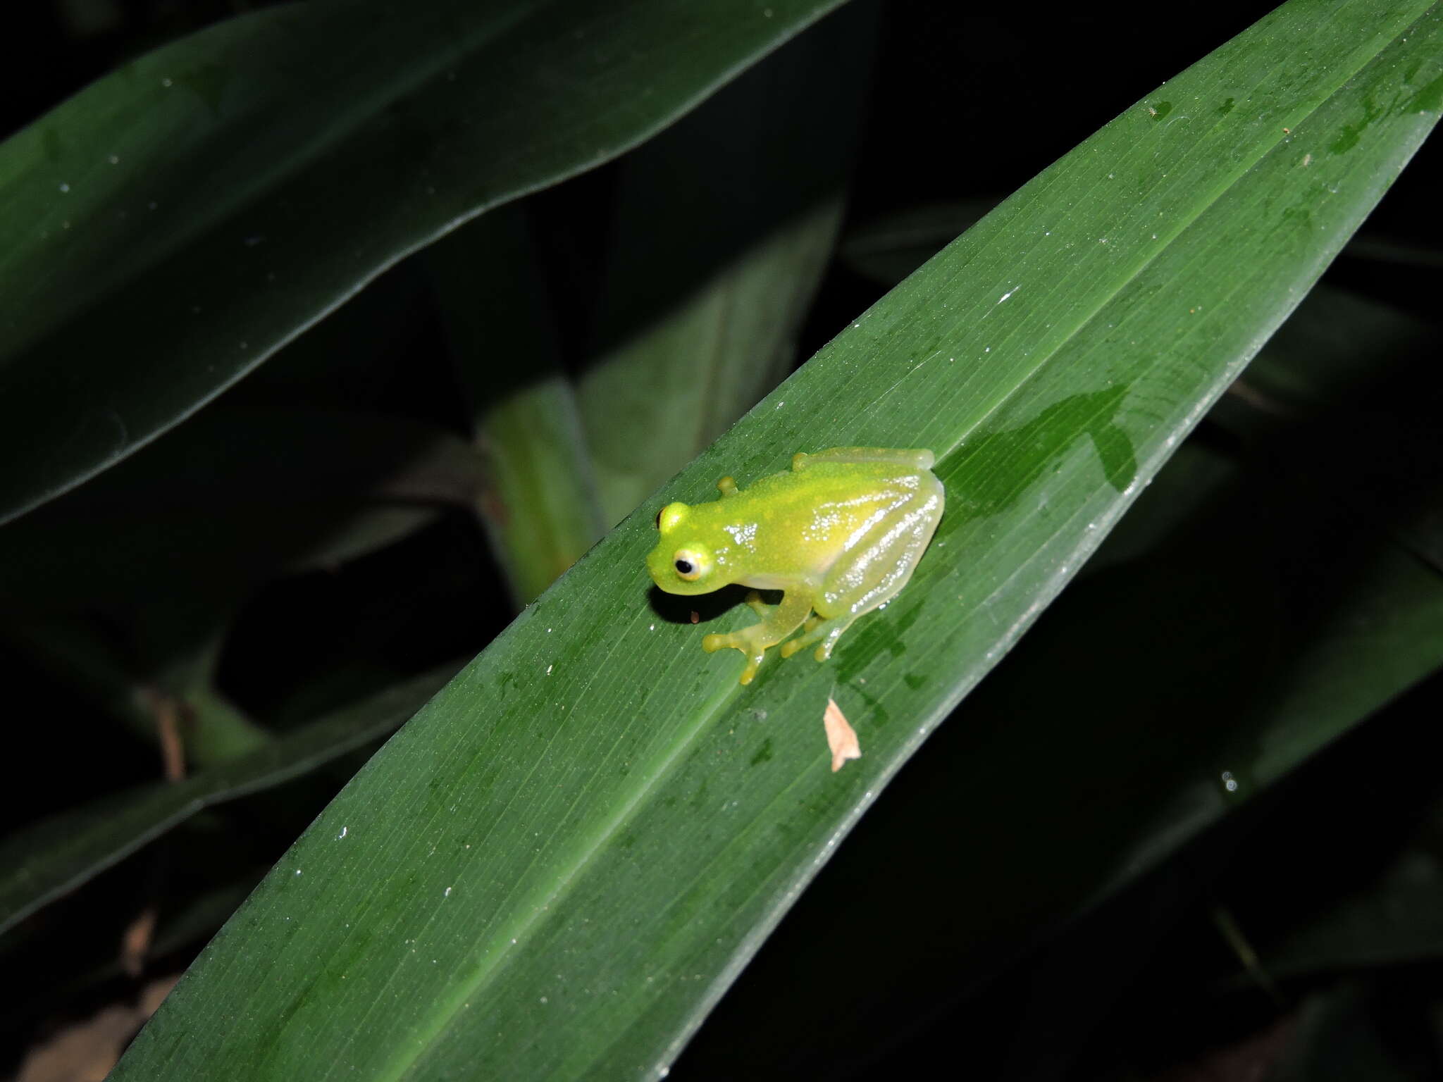
[[[0,521],[462,221],[633,146],[840,0],[273,7],[0,146]],[[36,453],[42,449],[42,453]]]

